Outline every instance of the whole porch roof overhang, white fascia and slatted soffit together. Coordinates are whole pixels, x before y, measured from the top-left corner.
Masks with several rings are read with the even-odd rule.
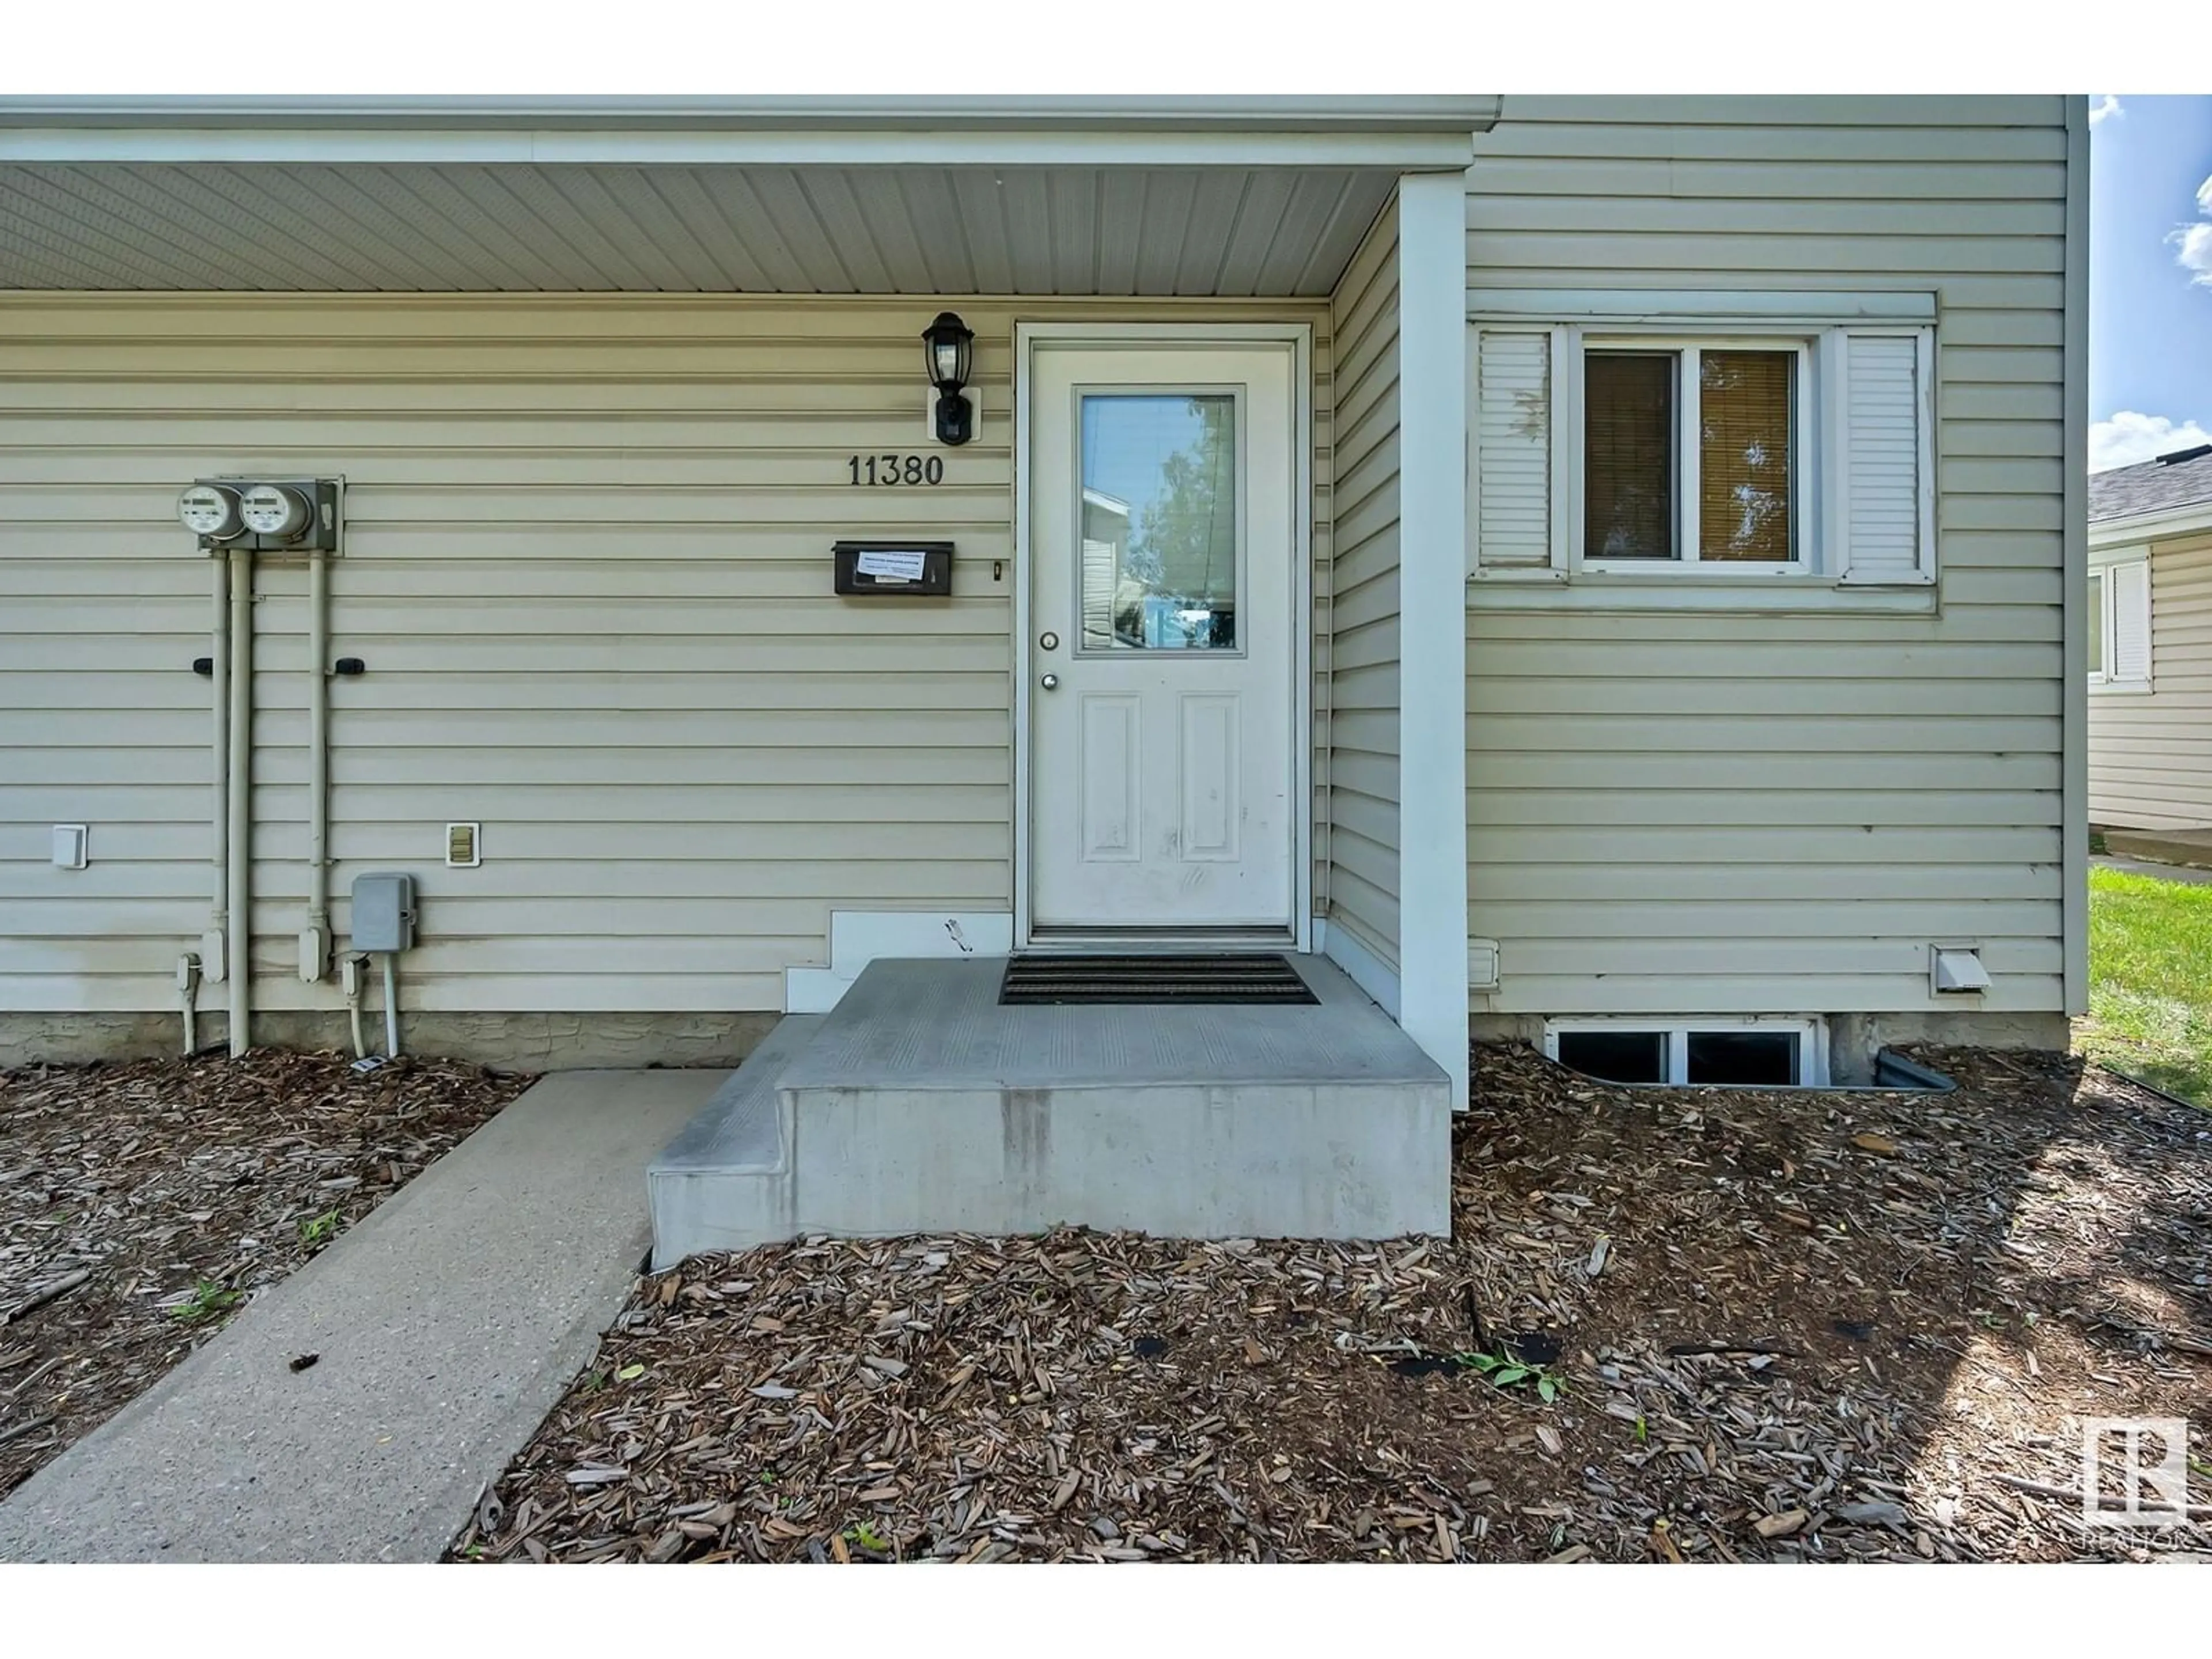
[[[4,100],[0,288],[1327,294],[1498,100]]]

